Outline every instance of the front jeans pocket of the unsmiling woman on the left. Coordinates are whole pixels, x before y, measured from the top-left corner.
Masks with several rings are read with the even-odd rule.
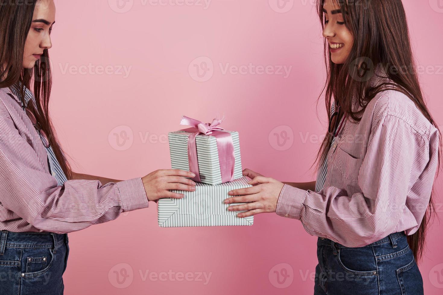
[[[49,271],[55,260],[51,248],[25,249],[23,256],[26,257],[26,272],[21,274],[22,278],[42,276]]]

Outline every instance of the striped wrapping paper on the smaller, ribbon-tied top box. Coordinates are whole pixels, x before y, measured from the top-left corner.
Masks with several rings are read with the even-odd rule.
[[[240,140],[237,131],[221,130],[229,132],[234,144],[234,180],[243,176],[241,168]],[[169,151],[171,153],[172,169],[189,171],[188,161],[188,137],[190,132],[175,131],[168,134]],[[214,136],[200,134],[195,138],[197,145],[198,171],[200,180],[206,184],[221,184],[220,162],[218,161],[217,141]]]

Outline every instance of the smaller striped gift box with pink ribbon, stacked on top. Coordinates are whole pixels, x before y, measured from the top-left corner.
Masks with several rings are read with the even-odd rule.
[[[192,180],[211,185],[243,177],[238,132],[224,130],[221,121],[183,116],[180,125],[192,127],[168,134],[172,169],[194,172]]]

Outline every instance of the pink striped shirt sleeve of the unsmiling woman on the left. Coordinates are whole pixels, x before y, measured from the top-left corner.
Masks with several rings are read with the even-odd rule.
[[[64,234],[148,207],[140,177],[105,185],[68,180],[58,186],[10,117],[0,115],[0,131],[1,204],[35,228]]]

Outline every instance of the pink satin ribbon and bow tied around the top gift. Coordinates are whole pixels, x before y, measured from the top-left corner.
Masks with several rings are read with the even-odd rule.
[[[201,182],[198,169],[197,145],[195,143],[195,137],[199,134],[212,135],[217,141],[218,161],[220,162],[222,183],[234,180],[234,144],[231,134],[229,132],[221,131],[224,129],[218,127],[220,124],[221,120],[219,119],[214,119],[212,123],[205,124],[187,116],[182,117],[180,125],[192,126],[191,128],[182,129],[180,131],[192,133],[188,138],[188,161],[189,171],[195,174],[195,177],[192,178],[194,181]]]

